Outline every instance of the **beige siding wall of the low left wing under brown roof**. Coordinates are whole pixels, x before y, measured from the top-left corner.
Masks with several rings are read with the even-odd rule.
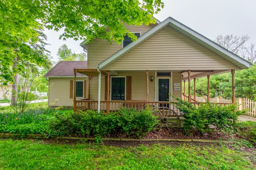
[[[70,80],[74,78],[49,78],[48,106],[73,106],[74,99],[70,98]],[[86,77],[76,80],[86,80]]]

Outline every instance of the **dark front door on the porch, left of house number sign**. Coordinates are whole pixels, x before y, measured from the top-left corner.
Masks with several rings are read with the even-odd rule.
[[[158,101],[169,101],[170,78],[158,79]],[[160,104],[160,107],[169,107],[169,104]]]

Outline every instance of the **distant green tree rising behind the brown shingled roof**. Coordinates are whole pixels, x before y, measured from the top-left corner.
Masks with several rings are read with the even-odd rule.
[[[71,49],[69,49],[66,44],[60,46],[57,56],[59,61],[85,61],[87,57],[86,53],[72,53]]]

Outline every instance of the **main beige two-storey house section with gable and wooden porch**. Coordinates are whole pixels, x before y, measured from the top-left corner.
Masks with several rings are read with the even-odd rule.
[[[207,76],[209,82],[210,75],[224,72],[232,76],[235,101],[234,72],[249,68],[248,61],[171,17],[148,26],[126,28],[135,33],[137,41],[124,37],[122,44],[110,44],[99,38],[93,43],[81,43],[88,51],[87,69],[76,67],[74,80],[79,73],[88,75],[89,99],[82,101],[74,96],[74,111],[108,112],[122,106],[141,109],[145,104],[172,107],[168,104],[172,100],[169,94],[183,98],[184,80],[188,80],[187,97],[192,102],[192,78]]]

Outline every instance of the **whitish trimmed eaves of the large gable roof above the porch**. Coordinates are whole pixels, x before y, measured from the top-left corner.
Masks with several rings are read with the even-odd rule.
[[[162,21],[160,24],[156,25],[146,33],[144,33],[141,37],[137,39],[137,41],[130,43],[126,47],[122,48],[120,51],[115,53],[114,55],[110,56],[108,59],[102,61],[102,63],[98,64],[97,67],[101,70],[109,66],[110,64],[114,63],[116,60],[120,59],[120,57],[124,56],[126,53],[130,52],[132,49],[137,47],[138,45],[142,44],[144,41],[161,31],[164,27],[171,27],[172,29],[178,31],[179,33],[185,35],[186,37],[192,39],[196,43],[202,45],[206,49],[216,53],[220,57],[226,59],[230,63],[234,64],[235,66],[244,69],[249,68],[252,66],[251,63],[242,59],[238,55],[228,51],[227,49],[221,47],[214,41],[204,37],[200,33],[190,29],[186,25],[174,20],[173,18],[169,17],[166,20]]]

